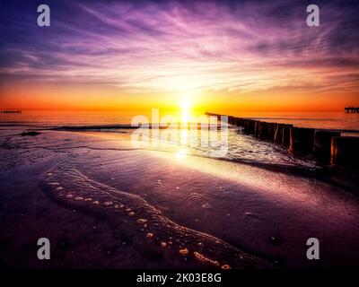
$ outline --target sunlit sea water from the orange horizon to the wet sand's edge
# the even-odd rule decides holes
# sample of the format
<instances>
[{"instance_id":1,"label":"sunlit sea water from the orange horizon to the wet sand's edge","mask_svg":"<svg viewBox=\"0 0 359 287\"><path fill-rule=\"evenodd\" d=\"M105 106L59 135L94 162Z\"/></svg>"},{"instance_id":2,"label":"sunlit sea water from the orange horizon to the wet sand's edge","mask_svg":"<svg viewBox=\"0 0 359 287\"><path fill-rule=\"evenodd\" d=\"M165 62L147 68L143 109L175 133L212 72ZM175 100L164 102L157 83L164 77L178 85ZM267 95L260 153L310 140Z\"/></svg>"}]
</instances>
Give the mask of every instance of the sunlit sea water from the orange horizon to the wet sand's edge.
<instances>
[{"instance_id":1,"label":"sunlit sea water from the orange horizon to the wet sand's edge","mask_svg":"<svg viewBox=\"0 0 359 287\"><path fill-rule=\"evenodd\" d=\"M74 112L74 111L23 111L22 114L0 114L0 129L17 126L17 129L50 126L86 126L83 131L101 132L118 136L118 140L130 140L134 129L123 128L116 125L130 125L133 117L144 115L151 120L151 112ZM163 114L162 116L165 116ZM359 114L346 114L344 112L239 112L237 117L250 117L277 123L289 123L294 126L337 129L342 135L359 135ZM106 128L99 128L107 125ZM113 125L113 126L112 126ZM1 127L3 126L3 127ZM29 127L31 126L31 127ZM33 127L32 127L33 126ZM13 127L12 127L13 128ZM76 131L81 131L77 130ZM206 137L203 131L201 136ZM208 135L209 138L210 135ZM150 136L151 137L151 136ZM159 148L165 152L172 152L182 157L187 154L213 157L218 149L216 145L192 144L199 143L198 135L191 135L187 130L181 130L179 137L164 140ZM228 152L222 158L228 161L246 161L260 165L303 166L311 168L315 163L307 160L294 159L288 156L286 149L273 143L258 141L249 135L241 135L239 128L231 126L228 130ZM219 144L219 143L218 143ZM217 144L217 145L218 145ZM153 148L153 147L152 147Z\"/></svg>"}]
</instances>

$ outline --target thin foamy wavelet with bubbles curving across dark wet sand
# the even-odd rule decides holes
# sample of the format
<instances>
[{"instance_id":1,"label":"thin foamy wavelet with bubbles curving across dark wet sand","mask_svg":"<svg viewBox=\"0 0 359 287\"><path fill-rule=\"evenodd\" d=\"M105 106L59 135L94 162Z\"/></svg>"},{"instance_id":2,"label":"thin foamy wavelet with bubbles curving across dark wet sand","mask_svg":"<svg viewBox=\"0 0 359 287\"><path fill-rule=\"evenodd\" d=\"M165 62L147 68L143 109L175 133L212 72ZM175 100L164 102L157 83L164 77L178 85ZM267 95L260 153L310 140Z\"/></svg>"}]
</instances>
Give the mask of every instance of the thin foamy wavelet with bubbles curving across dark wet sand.
<instances>
[{"instance_id":1,"label":"thin foamy wavelet with bubbles curving across dark wet sand","mask_svg":"<svg viewBox=\"0 0 359 287\"><path fill-rule=\"evenodd\" d=\"M51 176L49 176L51 174ZM59 196L57 182L65 196ZM110 222L123 245L131 239L161 247L165 257L205 267L268 267L266 261L250 256L226 242L172 222L141 196L128 194L84 176L66 163L48 170L42 187L60 204L76 208ZM196 197L196 196L194 196ZM102 204L101 204L102 203ZM119 206L124 208L119 208Z\"/></svg>"}]
</instances>

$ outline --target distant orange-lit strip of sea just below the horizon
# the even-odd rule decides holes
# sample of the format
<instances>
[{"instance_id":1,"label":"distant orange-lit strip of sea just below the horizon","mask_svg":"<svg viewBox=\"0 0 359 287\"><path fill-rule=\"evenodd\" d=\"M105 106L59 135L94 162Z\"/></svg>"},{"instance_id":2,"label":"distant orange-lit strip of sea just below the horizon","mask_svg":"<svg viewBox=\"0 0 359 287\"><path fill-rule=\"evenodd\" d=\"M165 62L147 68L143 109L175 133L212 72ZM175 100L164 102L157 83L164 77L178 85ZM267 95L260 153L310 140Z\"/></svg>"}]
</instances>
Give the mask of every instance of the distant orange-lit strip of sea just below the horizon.
<instances>
[{"instance_id":1,"label":"distant orange-lit strip of sea just below the horizon","mask_svg":"<svg viewBox=\"0 0 359 287\"><path fill-rule=\"evenodd\" d=\"M0 114L0 124L35 126L129 125L133 117L151 111L22 111L21 114ZM162 113L161 116L167 115ZM359 134L359 114L343 112L233 112L232 116L293 124L294 126L337 129Z\"/></svg>"}]
</instances>

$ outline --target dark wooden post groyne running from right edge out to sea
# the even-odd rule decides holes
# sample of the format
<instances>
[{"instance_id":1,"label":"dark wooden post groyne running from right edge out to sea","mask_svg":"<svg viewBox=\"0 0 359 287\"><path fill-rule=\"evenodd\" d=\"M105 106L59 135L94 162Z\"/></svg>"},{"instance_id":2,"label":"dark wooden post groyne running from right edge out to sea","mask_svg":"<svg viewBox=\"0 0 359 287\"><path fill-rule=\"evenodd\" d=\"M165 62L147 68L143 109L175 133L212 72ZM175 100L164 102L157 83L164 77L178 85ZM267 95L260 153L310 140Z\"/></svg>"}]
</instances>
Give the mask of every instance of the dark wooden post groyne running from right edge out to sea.
<instances>
[{"instance_id":1,"label":"dark wooden post groyne running from right edge out to sea","mask_svg":"<svg viewBox=\"0 0 359 287\"><path fill-rule=\"evenodd\" d=\"M222 116L206 112L207 116ZM283 146L295 157L312 156L331 168L359 172L359 137L341 136L340 132L278 124L243 117L228 117L228 124L241 126L243 134Z\"/></svg>"}]
</instances>

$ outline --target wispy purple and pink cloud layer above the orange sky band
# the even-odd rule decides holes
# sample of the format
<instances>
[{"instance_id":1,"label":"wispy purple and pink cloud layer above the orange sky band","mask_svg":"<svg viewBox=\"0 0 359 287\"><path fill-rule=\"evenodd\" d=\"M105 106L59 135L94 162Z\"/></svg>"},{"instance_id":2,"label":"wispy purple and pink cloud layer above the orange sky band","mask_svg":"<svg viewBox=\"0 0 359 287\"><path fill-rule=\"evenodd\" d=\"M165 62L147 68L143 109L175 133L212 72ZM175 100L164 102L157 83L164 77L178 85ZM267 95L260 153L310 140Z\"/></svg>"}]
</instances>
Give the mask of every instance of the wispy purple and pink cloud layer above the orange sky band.
<instances>
[{"instance_id":1,"label":"wispy purple and pink cloud layer above the orange sky band","mask_svg":"<svg viewBox=\"0 0 359 287\"><path fill-rule=\"evenodd\" d=\"M319 3L316 28L297 1L50 1L49 28L7 4L0 73L126 92L359 91L358 6Z\"/></svg>"}]
</instances>

